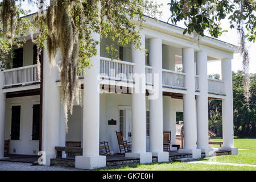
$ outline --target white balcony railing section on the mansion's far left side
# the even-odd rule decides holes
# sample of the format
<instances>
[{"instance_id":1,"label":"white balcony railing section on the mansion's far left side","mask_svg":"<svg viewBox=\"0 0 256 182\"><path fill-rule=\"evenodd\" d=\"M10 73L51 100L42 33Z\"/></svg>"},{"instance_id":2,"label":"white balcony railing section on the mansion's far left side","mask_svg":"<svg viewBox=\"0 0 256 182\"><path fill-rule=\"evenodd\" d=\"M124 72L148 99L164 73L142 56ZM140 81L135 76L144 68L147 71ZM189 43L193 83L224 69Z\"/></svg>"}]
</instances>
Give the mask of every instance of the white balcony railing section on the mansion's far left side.
<instances>
[{"instance_id":1,"label":"white balcony railing section on the mansion's far left side","mask_svg":"<svg viewBox=\"0 0 256 182\"><path fill-rule=\"evenodd\" d=\"M25 85L40 82L36 64L26 67L6 69L3 71L3 75L3 86Z\"/></svg>"}]
</instances>

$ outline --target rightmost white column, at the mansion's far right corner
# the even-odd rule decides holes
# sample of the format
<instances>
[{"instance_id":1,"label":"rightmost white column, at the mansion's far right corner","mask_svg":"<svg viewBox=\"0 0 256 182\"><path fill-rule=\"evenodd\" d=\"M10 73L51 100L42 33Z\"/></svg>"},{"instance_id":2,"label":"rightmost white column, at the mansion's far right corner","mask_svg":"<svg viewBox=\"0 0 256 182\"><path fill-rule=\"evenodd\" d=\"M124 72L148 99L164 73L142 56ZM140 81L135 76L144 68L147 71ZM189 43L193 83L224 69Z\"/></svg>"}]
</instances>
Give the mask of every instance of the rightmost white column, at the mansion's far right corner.
<instances>
[{"instance_id":1,"label":"rightmost white column, at the mansion's far right corner","mask_svg":"<svg viewBox=\"0 0 256 182\"><path fill-rule=\"evenodd\" d=\"M232 92L232 69L231 59L221 60L221 75L225 81L226 97L222 99L222 137L223 147L220 150L231 150L232 154L238 154L238 148L234 147L234 124L233 124L233 92Z\"/></svg>"}]
</instances>

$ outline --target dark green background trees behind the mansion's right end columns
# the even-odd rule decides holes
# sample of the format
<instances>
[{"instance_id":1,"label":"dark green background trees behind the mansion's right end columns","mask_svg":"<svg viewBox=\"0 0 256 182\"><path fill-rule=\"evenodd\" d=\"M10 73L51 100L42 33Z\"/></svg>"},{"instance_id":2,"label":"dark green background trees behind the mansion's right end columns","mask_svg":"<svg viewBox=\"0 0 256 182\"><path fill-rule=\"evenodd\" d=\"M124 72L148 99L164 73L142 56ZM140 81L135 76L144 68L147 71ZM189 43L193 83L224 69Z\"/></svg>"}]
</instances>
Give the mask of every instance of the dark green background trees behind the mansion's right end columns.
<instances>
[{"instance_id":1,"label":"dark green background trees behind the mansion's right end columns","mask_svg":"<svg viewBox=\"0 0 256 182\"><path fill-rule=\"evenodd\" d=\"M249 106L243 94L243 71L233 72L233 117L234 135L238 137L256 137L256 74L250 75ZM210 100L209 127L217 127L222 133L221 100ZM250 109L249 109L250 108Z\"/></svg>"}]
</instances>

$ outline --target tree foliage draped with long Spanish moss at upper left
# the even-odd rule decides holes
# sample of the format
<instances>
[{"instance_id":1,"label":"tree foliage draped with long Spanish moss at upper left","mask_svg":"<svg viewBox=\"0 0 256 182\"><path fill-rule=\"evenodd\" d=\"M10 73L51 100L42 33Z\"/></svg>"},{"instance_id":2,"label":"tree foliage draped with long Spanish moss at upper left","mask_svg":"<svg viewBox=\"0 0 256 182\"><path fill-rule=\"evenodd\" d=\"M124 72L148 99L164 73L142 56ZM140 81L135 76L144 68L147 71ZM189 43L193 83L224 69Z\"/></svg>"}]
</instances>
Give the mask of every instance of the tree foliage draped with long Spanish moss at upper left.
<instances>
[{"instance_id":1,"label":"tree foliage draped with long Spanish moss at upper left","mask_svg":"<svg viewBox=\"0 0 256 182\"><path fill-rule=\"evenodd\" d=\"M61 96L66 120L68 111L72 114L74 100L79 102L77 70L92 67L90 57L97 53L98 42L92 38L92 32L113 40L113 45L106 48L110 56L117 52L114 44L132 43L141 49L139 31L143 28L144 15L155 18L159 13L159 5L151 0L51 0L49 5L43 0L29 0L39 12L32 18L21 18L21 14L27 14L21 9L22 1L3 0L0 4L2 67L7 67L5 53L13 46L21 46L26 36L23 33L28 30L31 34L38 33L33 42L38 46L38 53L43 47L48 49L52 66L58 66L56 55L60 49Z\"/></svg>"}]
</instances>

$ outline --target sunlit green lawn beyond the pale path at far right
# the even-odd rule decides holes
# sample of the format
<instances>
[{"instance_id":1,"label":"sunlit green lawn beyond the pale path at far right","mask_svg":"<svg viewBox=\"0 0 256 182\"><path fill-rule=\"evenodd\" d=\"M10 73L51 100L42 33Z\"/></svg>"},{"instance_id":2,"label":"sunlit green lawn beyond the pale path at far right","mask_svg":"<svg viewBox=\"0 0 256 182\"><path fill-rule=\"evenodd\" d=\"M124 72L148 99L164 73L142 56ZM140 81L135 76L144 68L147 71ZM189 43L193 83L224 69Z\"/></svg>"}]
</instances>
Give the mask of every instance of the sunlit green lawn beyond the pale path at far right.
<instances>
[{"instance_id":1,"label":"sunlit green lawn beyond the pale path at far right","mask_svg":"<svg viewBox=\"0 0 256 182\"><path fill-rule=\"evenodd\" d=\"M214 141L222 141L220 138ZM200 160L208 160L214 162L237 163L237 164L253 164L256 165L256 138L235 138L234 146L249 150L239 150L238 155L221 155L214 158L204 158ZM218 146L213 146L218 147Z\"/></svg>"}]
</instances>

